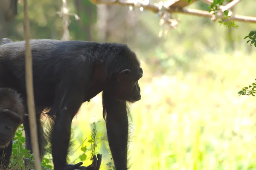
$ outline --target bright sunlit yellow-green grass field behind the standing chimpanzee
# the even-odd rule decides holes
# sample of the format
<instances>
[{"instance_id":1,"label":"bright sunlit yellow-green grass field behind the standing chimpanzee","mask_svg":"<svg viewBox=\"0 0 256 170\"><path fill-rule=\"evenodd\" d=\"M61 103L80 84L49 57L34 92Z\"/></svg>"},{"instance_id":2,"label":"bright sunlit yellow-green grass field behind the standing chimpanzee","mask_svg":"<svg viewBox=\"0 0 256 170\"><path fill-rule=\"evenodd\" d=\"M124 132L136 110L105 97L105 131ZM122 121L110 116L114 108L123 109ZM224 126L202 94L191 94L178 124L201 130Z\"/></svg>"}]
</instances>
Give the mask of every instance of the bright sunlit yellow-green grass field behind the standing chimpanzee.
<instances>
[{"instance_id":1,"label":"bright sunlit yellow-green grass field behind the standing chimpanzee","mask_svg":"<svg viewBox=\"0 0 256 170\"><path fill-rule=\"evenodd\" d=\"M255 63L256 54L208 53L189 73L169 76L154 76L142 63L142 99L131 106L131 170L256 169L256 98L237 94L256 78ZM100 121L98 137L104 136L101 105L101 94L82 105L73 120L74 148L90 139L93 122ZM98 146L101 170L107 170L105 164L113 162L107 142ZM81 153L76 150L70 160Z\"/></svg>"}]
</instances>

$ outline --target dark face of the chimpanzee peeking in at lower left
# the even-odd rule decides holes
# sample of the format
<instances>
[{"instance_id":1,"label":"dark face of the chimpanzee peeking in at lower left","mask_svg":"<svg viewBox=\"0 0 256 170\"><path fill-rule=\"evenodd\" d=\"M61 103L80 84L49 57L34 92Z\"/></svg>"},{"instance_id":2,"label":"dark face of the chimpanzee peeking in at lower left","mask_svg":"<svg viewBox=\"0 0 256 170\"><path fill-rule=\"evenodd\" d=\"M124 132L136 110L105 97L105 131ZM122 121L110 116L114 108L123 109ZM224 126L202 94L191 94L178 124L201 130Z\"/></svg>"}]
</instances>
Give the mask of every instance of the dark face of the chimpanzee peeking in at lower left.
<instances>
[{"instance_id":1,"label":"dark face of the chimpanzee peeking in at lower left","mask_svg":"<svg viewBox=\"0 0 256 170\"><path fill-rule=\"evenodd\" d=\"M17 127L28 118L12 112L8 109L0 108L0 148L6 147L12 140Z\"/></svg>"}]
</instances>

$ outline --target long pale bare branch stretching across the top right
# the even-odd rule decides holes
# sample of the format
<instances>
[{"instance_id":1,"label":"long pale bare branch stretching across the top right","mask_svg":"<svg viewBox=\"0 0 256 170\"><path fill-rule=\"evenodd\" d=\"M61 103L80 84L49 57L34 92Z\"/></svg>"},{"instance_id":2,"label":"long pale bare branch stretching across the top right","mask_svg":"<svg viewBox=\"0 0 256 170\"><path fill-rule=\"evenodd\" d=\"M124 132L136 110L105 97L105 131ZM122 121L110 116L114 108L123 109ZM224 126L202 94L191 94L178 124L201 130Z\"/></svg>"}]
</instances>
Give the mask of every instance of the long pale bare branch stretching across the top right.
<instances>
[{"instance_id":1,"label":"long pale bare branch stretching across the top right","mask_svg":"<svg viewBox=\"0 0 256 170\"><path fill-rule=\"evenodd\" d=\"M158 4L148 4L148 3L137 3L134 1L126 1L126 0L90 0L93 4L106 4L106 5L120 5L120 6L134 6L134 7L143 7L144 9L147 9L149 11L152 11L154 13L158 13L160 11L166 11L168 13L182 13L182 14L189 14L189 15L195 15L195 16L201 16L201 17L216 17L216 18L222 18L222 15L214 15L210 14L209 11L203 11L198 9L190 9L190 8L173 8L172 6L169 6L169 8L166 8L165 6L162 7L160 10L158 7ZM236 3L238 3L241 0L234 0L235 3L230 4L230 6L234 6ZM228 5L228 4L227 4ZM256 23L256 17L249 17L249 16L243 16L243 15L231 15L227 21L241 21L241 22L249 22L249 23Z\"/></svg>"}]
</instances>

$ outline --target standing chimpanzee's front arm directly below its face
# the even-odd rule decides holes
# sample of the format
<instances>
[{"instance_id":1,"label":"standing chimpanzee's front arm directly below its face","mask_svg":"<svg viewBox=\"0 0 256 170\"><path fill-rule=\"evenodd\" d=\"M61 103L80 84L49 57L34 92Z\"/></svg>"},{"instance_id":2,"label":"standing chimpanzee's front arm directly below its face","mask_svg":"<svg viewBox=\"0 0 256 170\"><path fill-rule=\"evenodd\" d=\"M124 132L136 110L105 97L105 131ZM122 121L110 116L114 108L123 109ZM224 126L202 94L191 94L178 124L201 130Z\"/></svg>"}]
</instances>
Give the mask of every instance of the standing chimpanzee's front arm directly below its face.
<instances>
[{"instance_id":1,"label":"standing chimpanzee's front arm directly below its face","mask_svg":"<svg viewBox=\"0 0 256 170\"><path fill-rule=\"evenodd\" d=\"M128 116L126 101L103 92L103 111L107 113L108 143L116 170L127 170Z\"/></svg>"}]
</instances>

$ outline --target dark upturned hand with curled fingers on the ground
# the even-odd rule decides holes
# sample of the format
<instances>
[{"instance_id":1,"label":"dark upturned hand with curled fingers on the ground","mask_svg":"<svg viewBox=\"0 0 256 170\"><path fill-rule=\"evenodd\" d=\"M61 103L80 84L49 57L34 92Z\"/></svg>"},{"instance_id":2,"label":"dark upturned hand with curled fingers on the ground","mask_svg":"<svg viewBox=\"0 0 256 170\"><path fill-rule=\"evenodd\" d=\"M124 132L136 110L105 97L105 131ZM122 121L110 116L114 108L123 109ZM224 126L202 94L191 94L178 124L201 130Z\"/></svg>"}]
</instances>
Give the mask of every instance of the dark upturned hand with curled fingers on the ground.
<instances>
[{"instance_id":1,"label":"dark upturned hand with curled fingers on the ground","mask_svg":"<svg viewBox=\"0 0 256 170\"><path fill-rule=\"evenodd\" d=\"M98 158L98 160L97 160ZM79 162L77 164L66 164L64 170L99 170L99 167L101 165L101 161L102 161L102 155L101 154L97 154L97 158L94 155L93 156L93 163L91 165L89 165L88 167L81 167L81 165L83 164L83 162Z\"/></svg>"}]
</instances>

